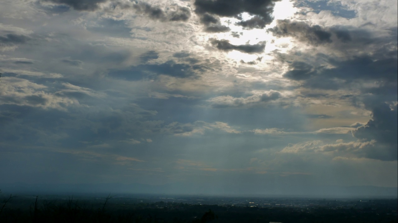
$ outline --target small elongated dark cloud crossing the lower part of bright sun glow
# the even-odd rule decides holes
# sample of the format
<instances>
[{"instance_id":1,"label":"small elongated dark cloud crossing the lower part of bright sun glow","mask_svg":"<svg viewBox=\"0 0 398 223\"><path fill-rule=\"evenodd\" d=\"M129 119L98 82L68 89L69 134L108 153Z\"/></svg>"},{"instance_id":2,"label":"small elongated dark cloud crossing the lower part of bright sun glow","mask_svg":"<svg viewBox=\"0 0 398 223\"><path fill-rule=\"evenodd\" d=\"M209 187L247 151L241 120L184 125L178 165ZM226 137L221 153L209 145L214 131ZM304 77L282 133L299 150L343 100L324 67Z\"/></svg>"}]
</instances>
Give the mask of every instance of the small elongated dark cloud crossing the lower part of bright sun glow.
<instances>
[{"instance_id":1,"label":"small elongated dark cloud crossing the lower part of bright sun glow","mask_svg":"<svg viewBox=\"0 0 398 223\"><path fill-rule=\"evenodd\" d=\"M254 54L254 53L262 53L265 49L265 42L259 42L258 44L244 44L244 45L234 45L230 44L229 40L217 40L215 38L209 39L211 44L215 46L217 49L222 51L231 51L231 50L238 50L240 52Z\"/></svg>"}]
</instances>

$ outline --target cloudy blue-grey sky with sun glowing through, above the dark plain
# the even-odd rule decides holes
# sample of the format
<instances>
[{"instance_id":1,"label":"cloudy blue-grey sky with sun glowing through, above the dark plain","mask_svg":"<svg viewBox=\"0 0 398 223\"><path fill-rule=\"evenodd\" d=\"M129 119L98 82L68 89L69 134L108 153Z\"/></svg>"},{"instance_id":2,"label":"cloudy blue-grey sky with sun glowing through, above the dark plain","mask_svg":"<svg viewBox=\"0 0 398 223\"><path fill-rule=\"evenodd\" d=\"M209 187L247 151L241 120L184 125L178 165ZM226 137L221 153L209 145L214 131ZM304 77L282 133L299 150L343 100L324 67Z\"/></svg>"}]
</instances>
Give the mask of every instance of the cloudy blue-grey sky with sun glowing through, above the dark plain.
<instances>
[{"instance_id":1,"label":"cloudy blue-grey sky with sun glowing through, above the dark plain","mask_svg":"<svg viewBox=\"0 0 398 223\"><path fill-rule=\"evenodd\" d=\"M2 0L1 183L396 187L397 8Z\"/></svg>"}]
</instances>

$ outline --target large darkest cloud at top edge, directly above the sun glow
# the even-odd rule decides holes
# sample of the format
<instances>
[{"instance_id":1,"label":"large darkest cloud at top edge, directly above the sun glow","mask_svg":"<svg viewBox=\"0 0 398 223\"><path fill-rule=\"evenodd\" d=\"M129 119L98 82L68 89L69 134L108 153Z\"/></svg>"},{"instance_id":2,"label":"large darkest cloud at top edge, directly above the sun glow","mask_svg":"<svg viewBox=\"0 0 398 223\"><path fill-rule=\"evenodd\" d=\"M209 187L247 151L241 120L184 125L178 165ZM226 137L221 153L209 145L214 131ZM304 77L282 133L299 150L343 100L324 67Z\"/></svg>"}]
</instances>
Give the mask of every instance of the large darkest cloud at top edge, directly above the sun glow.
<instances>
[{"instance_id":1,"label":"large darkest cloud at top edge, directly above the sun glow","mask_svg":"<svg viewBox=\"0 0 398 223\"><path fill-rule=\"evenodd\" d=\"M202 23L206 25L210 16L235 17L242 20L241 14L246 12L254 15L246 21L240 21L240 25L246 29L263 29L272 22L273 7L277 0L195 0L195 12L202 15ZM204 18L206 17L206 18ZM214 19L213 19L213 23Z\"/></svg>"}]
</instances>

